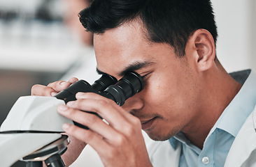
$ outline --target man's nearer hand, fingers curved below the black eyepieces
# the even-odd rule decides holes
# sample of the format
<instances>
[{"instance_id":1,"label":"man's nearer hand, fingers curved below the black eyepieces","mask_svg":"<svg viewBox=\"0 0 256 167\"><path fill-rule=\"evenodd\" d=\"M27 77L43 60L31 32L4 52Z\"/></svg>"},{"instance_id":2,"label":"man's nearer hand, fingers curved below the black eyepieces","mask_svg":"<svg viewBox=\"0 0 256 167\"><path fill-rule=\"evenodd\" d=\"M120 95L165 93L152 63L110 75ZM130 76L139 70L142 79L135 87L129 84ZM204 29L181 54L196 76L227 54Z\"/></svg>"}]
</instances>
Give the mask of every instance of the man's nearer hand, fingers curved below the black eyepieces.
<instances>
[{"instance_id":1,"label":"man's nearer hand, fingers curved below the black eyepieces","mask_svg":"<svg viewBox=\"0 0 256 167\"><path fill-rule=\"evenodd\" d=\"M65 124L66 134L91 145L104 166L152 166L138 118L95 93L77 93L76 98L76 101L60 105L58 111L90 129ZM108 124L85 111L98 113Z\"/></svg>"}]
</instances>

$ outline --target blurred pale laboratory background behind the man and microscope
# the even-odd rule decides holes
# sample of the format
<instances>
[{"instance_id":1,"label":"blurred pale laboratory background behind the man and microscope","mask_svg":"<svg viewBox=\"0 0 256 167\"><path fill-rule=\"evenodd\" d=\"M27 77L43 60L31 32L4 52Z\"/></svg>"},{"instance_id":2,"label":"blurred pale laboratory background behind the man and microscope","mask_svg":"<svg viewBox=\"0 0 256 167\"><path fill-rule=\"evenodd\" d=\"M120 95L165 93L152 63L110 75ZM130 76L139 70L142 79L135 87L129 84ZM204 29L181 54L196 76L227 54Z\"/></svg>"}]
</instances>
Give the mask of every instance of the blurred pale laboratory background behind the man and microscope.
<instances>
[{"instance_id":1,"label":"blurred pale laboratory background behind the man and microscope","mask_svg":"<svg viewBox=\"0 0 256 167\"><path fill-rule=\"evenodd\" d=\"M256 70L256 1L212 2L220 62L228 72ZM30 95L34 84L47 85L70 77L92 83L98 78L92 34L84 31L77 16L89 3L0 0L0 125L17 98ZM73 166L83 162L102 166L96 152L81 156ZM14 166L23 165L17 162Z\"/></svg>"}]
</instances>

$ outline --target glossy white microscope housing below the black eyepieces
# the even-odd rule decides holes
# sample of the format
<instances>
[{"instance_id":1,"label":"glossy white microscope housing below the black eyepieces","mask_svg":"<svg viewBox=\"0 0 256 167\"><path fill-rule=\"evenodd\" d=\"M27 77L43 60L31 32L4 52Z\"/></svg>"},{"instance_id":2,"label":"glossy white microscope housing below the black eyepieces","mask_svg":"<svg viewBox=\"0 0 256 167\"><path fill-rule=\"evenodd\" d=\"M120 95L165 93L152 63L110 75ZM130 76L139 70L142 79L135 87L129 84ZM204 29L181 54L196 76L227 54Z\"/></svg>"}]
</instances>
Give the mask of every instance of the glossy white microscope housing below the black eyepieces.
<instances>
[{"instance_id":1,"label":"glossy white microscope housing below the black eyepieces","mask_svg":"<svg viewBox=\"0 0 256 167\"><path fill-rule=\"evenodd\" d=\"M15 102L0 129L1 166L11 166L31 152L62 138L62 125L73 124L73 121L57 113L59 104L65 102L42 96L24 96Z\"/></svg>"}]
</instances>

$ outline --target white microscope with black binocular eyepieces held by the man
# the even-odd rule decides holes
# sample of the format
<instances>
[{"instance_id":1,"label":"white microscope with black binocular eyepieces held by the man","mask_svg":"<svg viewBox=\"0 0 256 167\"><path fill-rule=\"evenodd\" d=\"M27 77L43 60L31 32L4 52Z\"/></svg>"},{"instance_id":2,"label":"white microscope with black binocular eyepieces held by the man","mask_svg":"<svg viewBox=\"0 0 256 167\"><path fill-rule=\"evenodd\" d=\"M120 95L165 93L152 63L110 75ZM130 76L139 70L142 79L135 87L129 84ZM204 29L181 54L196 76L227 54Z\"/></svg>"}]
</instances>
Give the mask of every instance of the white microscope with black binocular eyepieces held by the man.
<instances>
[{"instance_id":1,"label":"white microscope with black binocular eyepieces held by the man","mask_svg":"<svg viewBox=\"0 0 256 167\"><path fill-rule=\"evenodd\" d=\"M127 72L119 81L107 74L92 85L77 81L55 97L20 97L0 128L0 166L12 166L18 160L26 161L27 167L41 167L43 162L49 167L65 166L61 155L68 149L69 138L63 134L62 125L88 128L59 115L57 106L76 100L78 92L97 93L122 106L142 89L141 76Z\"/></svg>"}]
</instances>

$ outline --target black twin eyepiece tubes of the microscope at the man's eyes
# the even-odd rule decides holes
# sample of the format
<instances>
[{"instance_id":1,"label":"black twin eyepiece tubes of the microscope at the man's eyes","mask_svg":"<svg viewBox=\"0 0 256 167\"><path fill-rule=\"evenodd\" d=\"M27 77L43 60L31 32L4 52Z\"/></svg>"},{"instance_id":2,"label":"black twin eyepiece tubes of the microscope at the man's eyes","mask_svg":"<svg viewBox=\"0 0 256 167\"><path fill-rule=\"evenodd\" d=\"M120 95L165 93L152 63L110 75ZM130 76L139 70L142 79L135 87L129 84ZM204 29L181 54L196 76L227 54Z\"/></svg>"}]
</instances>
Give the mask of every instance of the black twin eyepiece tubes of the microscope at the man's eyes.
<instances>
[{"instance_id":1,"label":"black twin eyepiece tubes of the microscope at the man's eyes","mask_svg":"<svg viewBox=\"0 0 256 167\"><path fill-rule=\"evenodd\" d=\"M125 104L125 100L132 97L143 89L143 79L136 72L127 72L119 81L111 75L102 75L100 79L94 81L92 86L87 81L80 80L69 86L65 90L55 95L57 99L66 103L76 100L78 92L92 92L114 100L118 105Z\"/></svg>"}]
</instances>

